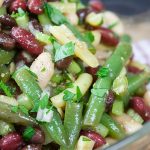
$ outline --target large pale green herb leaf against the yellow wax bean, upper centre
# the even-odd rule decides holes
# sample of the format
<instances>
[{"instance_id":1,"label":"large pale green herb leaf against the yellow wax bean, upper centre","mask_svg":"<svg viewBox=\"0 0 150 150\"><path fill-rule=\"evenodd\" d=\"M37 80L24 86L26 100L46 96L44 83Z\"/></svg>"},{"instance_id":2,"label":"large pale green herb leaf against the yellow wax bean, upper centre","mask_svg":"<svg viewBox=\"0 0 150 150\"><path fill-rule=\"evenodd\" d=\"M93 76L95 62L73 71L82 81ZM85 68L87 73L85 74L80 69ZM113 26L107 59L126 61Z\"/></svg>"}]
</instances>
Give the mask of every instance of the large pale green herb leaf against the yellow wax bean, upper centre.
<instances>
[{"instance_id":1,"label":"large pale green herb leaf against the yellow wax bean, upper centre","mask_svg":"<svg viewBox=\"0 0 150 150\"><path fill-rule=\"evenodd\" d=\"M74 49L75 49L75 45L73 44L73 42L69 42L60 47L58 47L58 45L57 45L57 49L55 49L56 50L55 62L57 62L63 58L74 55Z\"/></svg>"}]
</instances>

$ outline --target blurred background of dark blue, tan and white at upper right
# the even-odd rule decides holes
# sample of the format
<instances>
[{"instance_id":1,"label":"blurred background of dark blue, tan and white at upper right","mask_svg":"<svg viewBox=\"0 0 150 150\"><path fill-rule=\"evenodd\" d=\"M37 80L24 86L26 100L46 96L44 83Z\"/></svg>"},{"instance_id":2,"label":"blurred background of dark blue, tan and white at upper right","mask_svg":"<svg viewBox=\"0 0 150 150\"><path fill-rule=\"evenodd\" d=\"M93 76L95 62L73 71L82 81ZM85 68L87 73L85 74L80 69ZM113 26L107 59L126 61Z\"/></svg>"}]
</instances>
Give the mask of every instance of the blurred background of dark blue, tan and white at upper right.
<instances>
[{"instance_id":1,"label":"blurred background of dark blue, tan and white at upper right","mask_svg":"<svg viewBox=\"0 0 150 150\"><path fill-rule=\"evenodd\" d=\"M83 2L87 3L88 0ZM125 32L133 39L134 59L150 66L150 0L101 0L101 2L106 10L120 16Z\"/></svg>"}]
</instances>

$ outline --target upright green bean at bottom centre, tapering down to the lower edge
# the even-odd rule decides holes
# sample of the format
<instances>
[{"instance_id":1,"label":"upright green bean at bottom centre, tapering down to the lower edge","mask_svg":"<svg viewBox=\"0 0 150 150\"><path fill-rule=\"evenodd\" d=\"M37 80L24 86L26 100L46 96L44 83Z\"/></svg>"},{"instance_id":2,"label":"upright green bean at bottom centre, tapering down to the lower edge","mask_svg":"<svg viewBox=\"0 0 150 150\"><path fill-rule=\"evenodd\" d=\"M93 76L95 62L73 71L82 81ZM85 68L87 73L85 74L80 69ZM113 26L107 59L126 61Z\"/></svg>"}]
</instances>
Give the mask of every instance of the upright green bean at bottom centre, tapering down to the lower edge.
<instances>
[{"instance_id":1,"label":"upright green bean at bottom centre, tapering down to the lower edge","mask_svg":"<svg viewBox=\"0 0 150 150\"><path fill-rule=\"evenodd\" d=\"M83 103L67 102L64 127L69 137L69 150L74 150L82 124Z\"/></svg>"}]
</instances>

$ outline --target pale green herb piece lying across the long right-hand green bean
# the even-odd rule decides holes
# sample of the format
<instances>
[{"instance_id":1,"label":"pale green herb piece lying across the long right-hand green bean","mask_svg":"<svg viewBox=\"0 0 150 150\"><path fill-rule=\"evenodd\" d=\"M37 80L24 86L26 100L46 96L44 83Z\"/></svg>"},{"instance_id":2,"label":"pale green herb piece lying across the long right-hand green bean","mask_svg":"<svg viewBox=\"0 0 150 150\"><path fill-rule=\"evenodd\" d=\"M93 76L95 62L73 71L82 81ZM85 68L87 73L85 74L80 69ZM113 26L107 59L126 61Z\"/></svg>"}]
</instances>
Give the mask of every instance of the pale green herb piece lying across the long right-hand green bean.
<instances>
[{"instance_id":1,"label":"pale green herb piece lying across the long right-hand green bean","mask_svg":"<svg viewBox=\"0 0 150 150\"><path fill-rule=\"evenodd\" d=\"M95 96L103 98L108 92L108 89L91 89L91 93Z\"/></svg>"}]
</instances>

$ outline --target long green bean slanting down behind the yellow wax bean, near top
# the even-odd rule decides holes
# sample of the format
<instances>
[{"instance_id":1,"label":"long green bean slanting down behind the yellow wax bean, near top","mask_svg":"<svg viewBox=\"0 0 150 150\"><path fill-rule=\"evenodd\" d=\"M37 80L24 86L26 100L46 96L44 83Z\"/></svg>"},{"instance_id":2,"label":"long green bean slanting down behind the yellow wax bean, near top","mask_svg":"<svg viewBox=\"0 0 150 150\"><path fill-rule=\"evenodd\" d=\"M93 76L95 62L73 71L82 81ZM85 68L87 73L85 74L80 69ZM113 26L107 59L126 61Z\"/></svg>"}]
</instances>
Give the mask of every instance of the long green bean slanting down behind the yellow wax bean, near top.
<instances>
[{"instance_id":1,"label":"long green bean slanting down behind the yellow wax bean, near top","mask_svg":"<svg viewBox=\"0 0 150 150\"><path fill-rule=\"evenodd\" d=\"M48 17L54 24L65 24L79 40L87 43L88 48L92 53L96 52L94 46L86 38L84 38L80 31L78 31L78 29L74 27L58 9L56 9L52 5L49 5L48 3L44 4L44 9Z\"/></svg>"}]
</instances>

